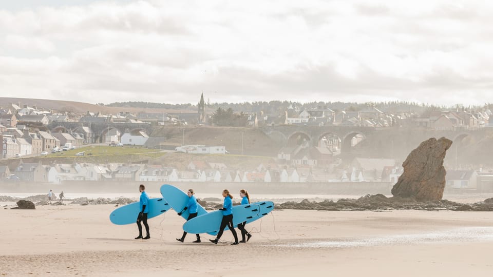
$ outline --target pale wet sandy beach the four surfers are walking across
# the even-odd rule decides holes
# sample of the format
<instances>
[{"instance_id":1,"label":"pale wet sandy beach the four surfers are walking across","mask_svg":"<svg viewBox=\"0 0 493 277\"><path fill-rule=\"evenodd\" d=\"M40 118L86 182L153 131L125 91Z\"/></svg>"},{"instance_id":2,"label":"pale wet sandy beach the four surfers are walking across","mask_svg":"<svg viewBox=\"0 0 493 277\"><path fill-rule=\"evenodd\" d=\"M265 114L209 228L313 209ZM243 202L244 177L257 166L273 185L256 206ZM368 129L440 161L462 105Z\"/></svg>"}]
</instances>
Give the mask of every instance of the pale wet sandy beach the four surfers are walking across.
<instances>
[{"instance_id":1,"label":"pale wet sandy beach the four surfers are walking across","mask_svg":"<svg viewBox=\"0 0 493 277\"><path fill-rule=\"evenodd\" d=\"M493 213L275 210L247 225L253 238L232 246L179 243L173 210L135 224L110 223L113 205L0 210L2 276L464 276L493 270Z\"/></svg>"}]
</instances>

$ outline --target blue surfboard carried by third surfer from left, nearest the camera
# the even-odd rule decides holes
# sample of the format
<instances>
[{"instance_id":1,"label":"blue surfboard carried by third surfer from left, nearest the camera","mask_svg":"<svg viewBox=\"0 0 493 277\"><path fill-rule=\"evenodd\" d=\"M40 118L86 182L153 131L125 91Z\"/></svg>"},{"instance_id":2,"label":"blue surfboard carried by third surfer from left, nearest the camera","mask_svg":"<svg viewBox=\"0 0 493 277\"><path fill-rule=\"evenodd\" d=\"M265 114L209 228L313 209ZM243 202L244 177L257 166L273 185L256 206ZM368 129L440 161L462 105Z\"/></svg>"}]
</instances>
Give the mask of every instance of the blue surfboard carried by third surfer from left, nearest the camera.
<instances>
[{"instance_id":1,"label":"blue surfboard carried by third surfer from left, nearest the camera","mask_svg":"<svg viewBox=\"0 0 493 277\"><path fill-rule=\"evenodd\" d=\"M258 217L260 206L257 204L238 205L233 207L233 225ZM219 231L222 211L213 211L191 219L183 224L183 231L193 234L215 233Z\"/></svg>"}]
</instances>

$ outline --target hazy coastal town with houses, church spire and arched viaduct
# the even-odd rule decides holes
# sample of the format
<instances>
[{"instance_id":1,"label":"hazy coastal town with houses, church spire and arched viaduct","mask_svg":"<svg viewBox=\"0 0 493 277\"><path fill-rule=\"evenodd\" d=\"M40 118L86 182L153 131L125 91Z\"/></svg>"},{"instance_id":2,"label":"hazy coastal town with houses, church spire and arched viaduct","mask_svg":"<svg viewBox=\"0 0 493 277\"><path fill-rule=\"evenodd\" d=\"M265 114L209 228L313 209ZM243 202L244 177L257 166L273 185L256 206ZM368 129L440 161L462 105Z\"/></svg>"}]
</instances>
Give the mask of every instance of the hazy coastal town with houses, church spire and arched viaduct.
<instances>
[{"instance_id":1,"label":"hazy coastal town with houses, church spire and arched viaduct","mask_svg":"<svg viewBox=\"0 0 493 277\"><path fill-rule=\"evenodd\" d=\"M376 149L376 153L367 151L361 155L353 151L364 145L362 142L370 139L375 130L448 132L454 136L454 143L460 144L471 136L486 136L493 129L492 112L486 106L475 110L456 107L415 112L349 105L346 109L332 109L325 103L315 104L304 109L290 103L285 110L271 109L273 113L229 109L230 118L234 115L240 120L227 125L218 118L227 109L207 107L203 94L195 111L188 109L181 113L131 113L121 108L116 114L101 111L78 114L29 105L28 100L8 103L0 108L0 180L6 184L115 181L350 185L364 182L387 188L402 174L403 156L396 149L390 149L390 153ZM201 128L212 128L208 130L212 133L219 132L219 128L222 131L225 128L226 133L236 132L228 128L241 128L241 139L237 142L240 145L229 143L231 147L228 147L219 139L215 144L200 140L185 143L185 132ZM243 137L253 130L261 130L264 136ZM169 140L172 132L174 141ZM218 136L219 133L215 134L215 138ZM270 141L273 147L261 155L250 153L248 143L260 139ZM395 148L398 147L396 144ZM85 159L98 154L116 155L124 149L155 153L155 157L125 162ZM186 158L177 163L173 162L175 159L165 159L166 155ZM238 166L231 157L243 157L250 163ZM458 163L456 159L445 166L446 189L493 191L493 172L488 165Z\"/></svg>"}]
</instances>

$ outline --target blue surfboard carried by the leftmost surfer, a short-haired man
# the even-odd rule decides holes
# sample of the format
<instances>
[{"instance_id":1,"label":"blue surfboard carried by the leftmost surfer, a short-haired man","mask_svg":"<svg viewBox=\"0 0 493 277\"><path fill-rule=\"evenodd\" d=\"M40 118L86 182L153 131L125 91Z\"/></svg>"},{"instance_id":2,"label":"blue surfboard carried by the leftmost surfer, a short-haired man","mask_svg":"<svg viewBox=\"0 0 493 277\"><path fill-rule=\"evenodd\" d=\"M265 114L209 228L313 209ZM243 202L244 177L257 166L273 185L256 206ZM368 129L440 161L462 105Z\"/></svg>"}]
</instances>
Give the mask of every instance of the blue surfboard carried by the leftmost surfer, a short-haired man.
<instances>
[{"instance_id":1,"label":"blue surfboard carried by the leftmost surfer, a short-haired man","mask_svg":"<svg viewBox=\"0 0 493 277\"><path fill-rule=\"evenodd\" d=\"M166 201L162 198L153 198L149 199L149 212L147 213L147 219L151 219L155 216L166 212L171 207L166 203ZM137 216L139 215L139 202L134 202L122 206L114 211L112 211L109 215L109 220L113 224L117 225L126 225L136 223Z\"/></svg>"}]
</instances>

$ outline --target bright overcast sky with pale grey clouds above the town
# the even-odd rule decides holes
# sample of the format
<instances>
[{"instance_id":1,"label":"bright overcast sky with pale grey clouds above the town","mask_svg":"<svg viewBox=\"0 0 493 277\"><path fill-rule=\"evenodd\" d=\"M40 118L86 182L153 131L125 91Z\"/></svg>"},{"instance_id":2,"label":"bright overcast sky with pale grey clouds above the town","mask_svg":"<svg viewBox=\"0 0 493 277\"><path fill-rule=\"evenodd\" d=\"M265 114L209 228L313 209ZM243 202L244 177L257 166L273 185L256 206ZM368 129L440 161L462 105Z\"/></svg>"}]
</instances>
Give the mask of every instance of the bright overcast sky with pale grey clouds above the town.
<instances>
[{"instance_id":1,"label":"bright overcast sky with pale grey clouds above the town","mask_svg":"<svg viewBox=\"0 0 493 277\"><path fill-rule=\"evenodd\" d=\"M1 96L493 103L492 1L0 3Z\"/></svg>"}]
</instances>

